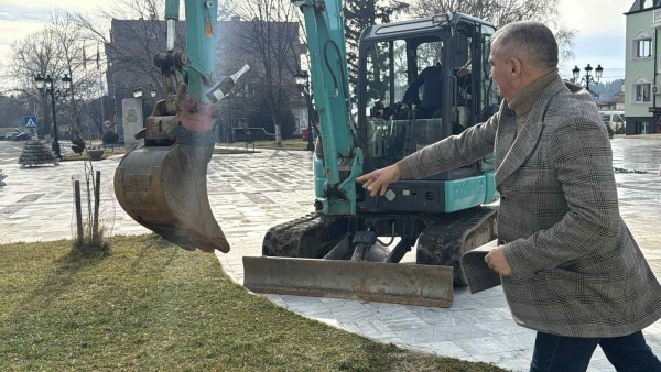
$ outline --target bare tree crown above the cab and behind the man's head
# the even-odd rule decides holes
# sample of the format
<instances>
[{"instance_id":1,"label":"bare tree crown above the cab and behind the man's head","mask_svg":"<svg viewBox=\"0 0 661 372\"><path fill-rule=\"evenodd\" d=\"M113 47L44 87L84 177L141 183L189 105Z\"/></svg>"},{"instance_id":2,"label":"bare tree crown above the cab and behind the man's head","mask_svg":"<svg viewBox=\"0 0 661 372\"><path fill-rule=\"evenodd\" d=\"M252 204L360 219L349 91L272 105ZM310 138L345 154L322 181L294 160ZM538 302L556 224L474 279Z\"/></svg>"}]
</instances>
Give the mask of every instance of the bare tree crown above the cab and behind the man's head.
<instances>
[{"instance_id":1,"label":"bare tree crown above the cab and behind the man's head","mask_svg":"<svg viewBox=\"0 0 661 372\"><path fill-rule=\"evenodd\" d=\"M575 31L559 22L559 0L416 0L411 10L416 17L462 12L489 21L497 28L516 21L540 21L554 31L563 61L573 57Z\"/></svg>"}]
</instances>

